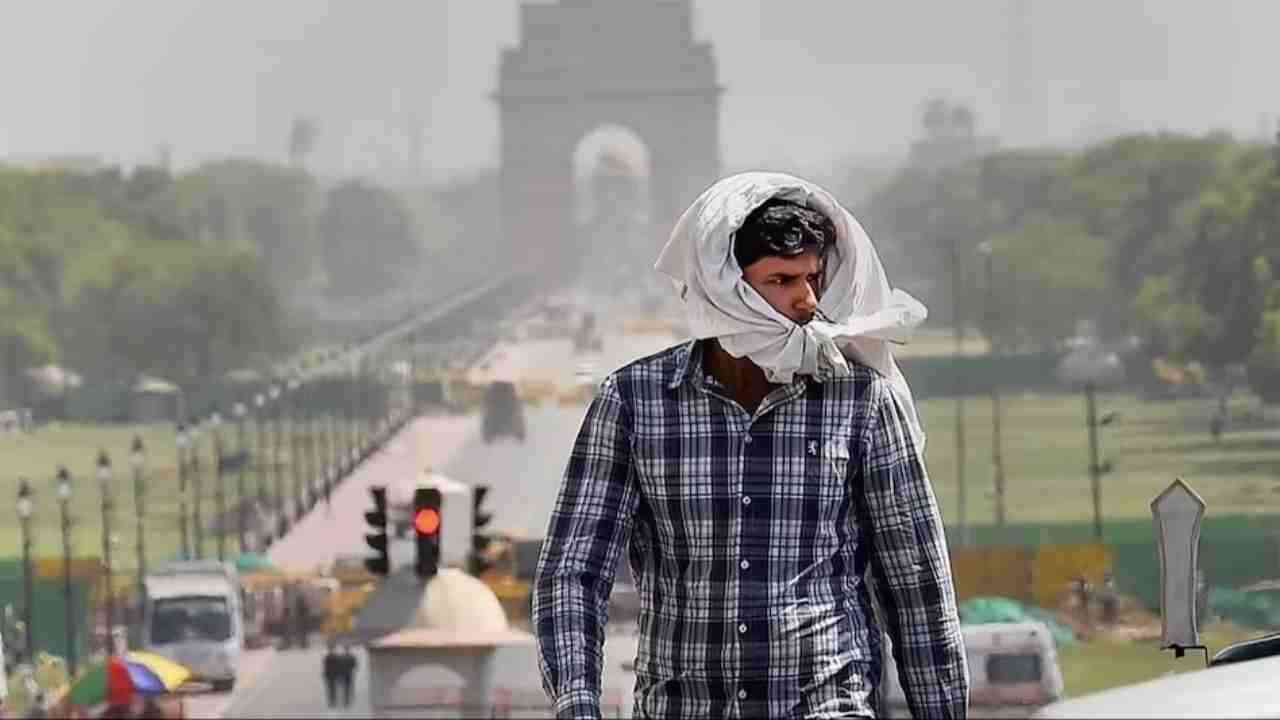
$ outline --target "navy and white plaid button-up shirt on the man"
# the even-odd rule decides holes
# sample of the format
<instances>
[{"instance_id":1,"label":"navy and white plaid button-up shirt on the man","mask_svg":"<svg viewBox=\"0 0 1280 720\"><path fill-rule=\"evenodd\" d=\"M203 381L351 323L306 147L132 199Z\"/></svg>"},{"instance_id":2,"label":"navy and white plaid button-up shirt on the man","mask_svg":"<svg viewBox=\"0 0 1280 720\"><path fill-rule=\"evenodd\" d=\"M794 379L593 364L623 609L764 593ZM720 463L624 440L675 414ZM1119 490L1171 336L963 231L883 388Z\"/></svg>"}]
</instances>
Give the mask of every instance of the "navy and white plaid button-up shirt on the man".
<instances>
[{"instance_id":1,"label":"navy and white plaid button-up shirt on the man","mask_svg":"<svg viewBox=\"0 0 1280 720\"><path fill-rule=\"evenodd\" d=\"M703 377L701 348L611 374L573 445L532 610L557 716L599 716L630 541L636 716L874 716L876 594L911 714L964 717L942 520L887 380L797 377L750 415Z\"/></svg>"}]
</instances>

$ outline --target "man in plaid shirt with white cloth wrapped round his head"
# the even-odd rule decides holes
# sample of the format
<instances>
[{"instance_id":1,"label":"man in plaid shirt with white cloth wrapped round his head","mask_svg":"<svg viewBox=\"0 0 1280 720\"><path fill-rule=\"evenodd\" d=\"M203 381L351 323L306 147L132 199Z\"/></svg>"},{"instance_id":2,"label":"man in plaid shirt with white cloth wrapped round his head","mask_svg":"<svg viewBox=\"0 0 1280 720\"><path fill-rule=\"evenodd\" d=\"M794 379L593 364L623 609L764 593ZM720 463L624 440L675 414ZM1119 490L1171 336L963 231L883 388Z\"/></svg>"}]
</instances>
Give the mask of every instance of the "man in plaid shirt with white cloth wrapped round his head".
<instances>
[{"instance_id":1,"label":"man in plaid shirt with white cloth wrapped round his head","mask_svg":"<svg viewBox=\"0 0 1280 720\"><path fill-rule=\"evenodd\" d=\"M636 716L873 717L881 615L911 714L964 717L924 433L888 348L924 307L827 192L777 173L716 183L657 266L698 340L611 374L570 455L534 592L557 716L600 716L628 547Z\"/></svg>"}]
</instances>

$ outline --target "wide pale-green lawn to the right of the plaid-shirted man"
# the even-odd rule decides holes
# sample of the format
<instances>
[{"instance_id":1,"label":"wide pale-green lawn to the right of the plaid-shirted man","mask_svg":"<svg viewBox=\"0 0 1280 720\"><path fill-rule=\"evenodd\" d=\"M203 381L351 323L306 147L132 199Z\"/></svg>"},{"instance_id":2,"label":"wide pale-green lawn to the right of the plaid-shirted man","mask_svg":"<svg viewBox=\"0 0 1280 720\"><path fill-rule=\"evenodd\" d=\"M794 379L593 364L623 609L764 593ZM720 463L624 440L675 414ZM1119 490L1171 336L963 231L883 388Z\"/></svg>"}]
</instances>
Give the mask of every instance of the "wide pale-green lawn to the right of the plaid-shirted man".
<instances>
[{"instance_id":1,"label":"wide pale-green lawn to the right of the plaid-shirted man","mask_svg":"<svg viewBox=\"0 0 1280 720\"><path fill-rule=\"evenodd\" d=\"M1280 511L1280 421L1239 421L1213 443L1212 402L1144 402L1130 395L1098 397L1098 413L1120 418L1098 429L1100 457L1115 469L1102 478L1106 519L1151 518L1151 500L1174 478L1187 480L1208 515ZM965 398L968 520L995 520L991 402ZM1256 413L1239 398L1233 416ZM920 414L928 433L928 468L947 523L957 519L956 401L927 400ZM1006 516L1010 524L1092 519L1088 430L1082 395L1023 395L1002 398Z\"/></svg>"}]
</instances>

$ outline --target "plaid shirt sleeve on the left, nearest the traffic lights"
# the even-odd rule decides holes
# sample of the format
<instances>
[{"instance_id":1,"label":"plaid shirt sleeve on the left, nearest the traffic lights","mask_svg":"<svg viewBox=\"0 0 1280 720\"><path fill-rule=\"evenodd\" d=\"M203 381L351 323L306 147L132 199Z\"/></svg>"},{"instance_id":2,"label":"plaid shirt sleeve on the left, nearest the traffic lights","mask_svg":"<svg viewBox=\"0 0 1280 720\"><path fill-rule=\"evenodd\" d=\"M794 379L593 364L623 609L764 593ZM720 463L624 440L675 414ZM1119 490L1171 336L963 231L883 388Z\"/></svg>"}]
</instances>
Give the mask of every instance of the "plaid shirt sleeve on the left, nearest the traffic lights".
<instances>
[{"instance_id":1,"label":"plaid shirt sleeve on the left, nearest the traffic lights","mask_svg":"<svg viewBox=\"0 0 1280 720\"><path fill-rule=\"evenodd\" d=\"M534 578L538 666L557 717L600 716L608 600L639 501L631 414L611 375L573 442Z\"/></svg>"}]
</instances>

